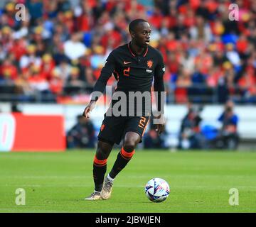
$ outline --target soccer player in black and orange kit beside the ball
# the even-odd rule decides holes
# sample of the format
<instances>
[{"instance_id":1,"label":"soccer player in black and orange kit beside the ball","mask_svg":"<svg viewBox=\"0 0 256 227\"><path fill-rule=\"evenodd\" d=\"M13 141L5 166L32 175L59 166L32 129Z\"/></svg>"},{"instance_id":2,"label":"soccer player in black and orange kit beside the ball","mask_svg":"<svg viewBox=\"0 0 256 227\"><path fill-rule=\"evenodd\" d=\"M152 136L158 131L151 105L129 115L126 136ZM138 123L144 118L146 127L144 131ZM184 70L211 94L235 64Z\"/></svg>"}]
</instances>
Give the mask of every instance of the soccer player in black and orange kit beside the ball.
<instances>
[{"instance_id":1,"label":"soccer player in black and orange kit beside the ball","mask_svg":"<svg viewBox=\"0 0 256 227\"><path fill-rule=\"evenodd\" d=\"M129 92L148 92L151 106L151 84L154 81L154 91L164 92L164 61L161 53L149 45L151 28L144 19L136 19L129 23L129 33L132 37L131 42L114 49L107 57L105 66L102 68L99 79L97 80L90 104L88 104L82 116L89 118L90 112L95 107L95 103L99 98L99 93L104 92L108 79L114 74L117 79L117 88L115 93L123 92L127 94L125 100L128 111L133 109L137 111L137 105L130 106ZM112 96L112 104L108 111L113 111L114 100ZM142 99L144 100L144 99ZM156 99L157 109L160 110L161 96ZM139 112L139 111L138 111ZM114 178L127 165L134 155L134 149L138 143L142 142L146 125L150 117L149 106L142 101L142 111L139 114L127 114L127 116L106 115L102 121L100 133L98 135L97 150L93 162L93 179L95 182L95 191L85 198L85 200L109 199L112 192ZM164 131L164 112L155 116L159 122L156 124L156 131L162 133ZM107 170L107 157L113 148L114 143L119 144L123 140L122 149L117 155L112 170L105 177Z\"/></svg>"}]
</instances>

